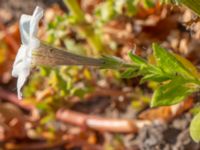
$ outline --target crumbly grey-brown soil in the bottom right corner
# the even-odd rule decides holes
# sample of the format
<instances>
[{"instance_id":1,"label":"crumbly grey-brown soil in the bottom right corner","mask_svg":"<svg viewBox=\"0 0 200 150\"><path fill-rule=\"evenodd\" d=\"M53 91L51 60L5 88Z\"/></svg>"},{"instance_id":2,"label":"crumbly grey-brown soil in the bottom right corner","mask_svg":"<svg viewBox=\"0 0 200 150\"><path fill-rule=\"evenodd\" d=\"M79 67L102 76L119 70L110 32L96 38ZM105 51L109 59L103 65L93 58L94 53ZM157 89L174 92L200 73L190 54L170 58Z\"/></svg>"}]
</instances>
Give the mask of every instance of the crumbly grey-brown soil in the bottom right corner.
<instances>
[{"instance_id":1,"label":"crumbly grey-brown soil in the bottom right corner","mask_svg":"<svg viewBox=\"0 0 200 150\"><path fill-rule=\"evenodd\" d=\"M199 150L200 145L194 143L189 136L188 126L191 115L175 119L170 124L154 123L144 128L137 137L139 146L144 150Z\"/></svg>"}]
</instances>

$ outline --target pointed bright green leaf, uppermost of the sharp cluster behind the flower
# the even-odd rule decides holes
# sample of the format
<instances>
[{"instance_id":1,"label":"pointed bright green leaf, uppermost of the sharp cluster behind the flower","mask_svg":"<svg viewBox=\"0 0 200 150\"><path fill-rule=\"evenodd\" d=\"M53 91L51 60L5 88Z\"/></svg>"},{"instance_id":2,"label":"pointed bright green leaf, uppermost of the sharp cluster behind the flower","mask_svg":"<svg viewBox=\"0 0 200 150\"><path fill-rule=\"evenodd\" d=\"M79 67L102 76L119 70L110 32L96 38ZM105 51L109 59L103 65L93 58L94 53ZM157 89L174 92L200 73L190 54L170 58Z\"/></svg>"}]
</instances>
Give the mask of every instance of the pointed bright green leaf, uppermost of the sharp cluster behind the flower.
<instances>
[{"instance_id":1,"label":"pointed bright green leaf, uppermost of the sharp cluster behind the flower","mask_svg":"<svg viewBox=\"0 0 200 150\"><path fill-rule=\"evenodd\" d=\"M185 68L185 66L176 59L171 53L169 53L166 49L160 47L158 44L152 45L154 56L156 58L157 65L162 68L168 74L176 74L179 73L183 77L194 78L190 71Z\"/></svg>"}]
</instances>

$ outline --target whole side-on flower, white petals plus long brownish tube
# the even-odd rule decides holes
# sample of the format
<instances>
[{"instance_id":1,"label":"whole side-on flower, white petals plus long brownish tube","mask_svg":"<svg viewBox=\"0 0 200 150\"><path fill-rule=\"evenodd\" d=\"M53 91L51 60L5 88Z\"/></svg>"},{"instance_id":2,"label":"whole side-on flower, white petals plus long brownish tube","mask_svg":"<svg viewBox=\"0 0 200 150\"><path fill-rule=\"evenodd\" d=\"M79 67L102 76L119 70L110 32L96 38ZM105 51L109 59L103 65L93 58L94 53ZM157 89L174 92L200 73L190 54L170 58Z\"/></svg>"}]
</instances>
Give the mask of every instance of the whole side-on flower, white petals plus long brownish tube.
<instances>
[{"instance_id":1,"label":"whole side-on flower, white petals plus long brownish tube","mask_svg":"<svg viewBox=\"0 0 200 150\"><path fill-rule=\"evenodd\" d=\"M111 57L102 57L100 59L84 57L40 42L36 36L42 16L43 9L36 7L32 16L22 15L20 18L22 44L12 70L12 76L18 78L17 93L19 99L22 99L21 89L30 75L32 66L83 65L116 68L116 66L119 67L123 64L121 60Z\"/></svg>"}]
</instances>

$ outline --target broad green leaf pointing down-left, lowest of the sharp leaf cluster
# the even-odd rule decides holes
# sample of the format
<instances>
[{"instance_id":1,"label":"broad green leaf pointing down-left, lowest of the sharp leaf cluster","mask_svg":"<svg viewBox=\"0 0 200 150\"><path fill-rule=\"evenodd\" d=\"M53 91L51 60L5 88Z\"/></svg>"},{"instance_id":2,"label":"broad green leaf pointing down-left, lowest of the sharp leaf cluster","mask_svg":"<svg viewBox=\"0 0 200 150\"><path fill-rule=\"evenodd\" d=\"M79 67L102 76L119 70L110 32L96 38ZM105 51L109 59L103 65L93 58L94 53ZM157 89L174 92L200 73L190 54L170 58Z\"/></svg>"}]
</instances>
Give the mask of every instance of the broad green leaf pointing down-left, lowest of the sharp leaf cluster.
<instances>
[{"instance_id":1,"label":"broad green leaf pointing down-left, lowest of the sharp leaf cluster","mask_svg":"<svg viewBox=\"0 0 200 150\"><path fill-rule=\"evenodd\" d=\"M151 107L173 105L183 101L194 89L187 87L188 82L176 77L169 83L160 86L153 94Z\"/></svg>"}]
</instances>

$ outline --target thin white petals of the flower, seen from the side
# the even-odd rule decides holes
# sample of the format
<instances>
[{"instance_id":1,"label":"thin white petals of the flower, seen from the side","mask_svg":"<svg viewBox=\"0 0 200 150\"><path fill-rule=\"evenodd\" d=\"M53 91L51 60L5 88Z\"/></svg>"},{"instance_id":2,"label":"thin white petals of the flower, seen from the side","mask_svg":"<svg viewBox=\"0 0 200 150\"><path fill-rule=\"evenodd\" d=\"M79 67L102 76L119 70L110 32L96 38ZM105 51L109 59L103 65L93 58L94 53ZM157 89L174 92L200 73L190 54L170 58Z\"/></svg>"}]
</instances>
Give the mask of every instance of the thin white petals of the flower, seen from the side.
<instances>
[{"instance_id":1,"label":"thin white petals of the flower, seen from the side","mask_svg":"<svg viewBox=\"0 0 200 150\"><path fill-rule=\"evenodd\" d=\"M22 44L15 58L12 70L12 76L18 78L17 93L19 99L22 98L22 86L30 74L32 51L40 46L40 41L36 36L38 24L42 17L43 9L36 7L32 16L23 14L20 18L20 34Z\"/></svg>"}]
</instances>

